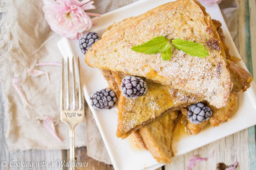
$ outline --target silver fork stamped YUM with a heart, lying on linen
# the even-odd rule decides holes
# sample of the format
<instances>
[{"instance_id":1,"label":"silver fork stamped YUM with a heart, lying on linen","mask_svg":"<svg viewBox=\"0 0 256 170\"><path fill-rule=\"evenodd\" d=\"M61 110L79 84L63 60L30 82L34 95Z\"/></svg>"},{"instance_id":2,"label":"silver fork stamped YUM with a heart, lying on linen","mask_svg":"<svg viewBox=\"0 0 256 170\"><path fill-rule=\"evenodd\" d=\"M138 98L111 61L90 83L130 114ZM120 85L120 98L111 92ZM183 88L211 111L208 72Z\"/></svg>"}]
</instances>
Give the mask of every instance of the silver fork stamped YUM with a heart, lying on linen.
<instances>
[{"instance_id":1,"label":"silver fork stamped YUM with a heart, lying on linen","mask_svg":"<svg viewBox=\"0 0 256 170\"><path fill-rule=\"evenodd\" d=\"M79 108L77 109L77 97L76 97L76 78L75 78L75 65L74 58L72 57L72 81L73 81L73 108L70 107L70 74L69 74L69 58L67 58L67 105L64 108L64 61L62 57L61 63L61 121L65 122L69 126L69 159L71 160L71 166L69 169L74 169L72 162L75 160L75 127L77 124L84 120L84 101L83 101L83 91L81 84L81 70L80 62L77 57L77 69L78 69L78 91L79 91Z\"/></svg>"}]
</instances>

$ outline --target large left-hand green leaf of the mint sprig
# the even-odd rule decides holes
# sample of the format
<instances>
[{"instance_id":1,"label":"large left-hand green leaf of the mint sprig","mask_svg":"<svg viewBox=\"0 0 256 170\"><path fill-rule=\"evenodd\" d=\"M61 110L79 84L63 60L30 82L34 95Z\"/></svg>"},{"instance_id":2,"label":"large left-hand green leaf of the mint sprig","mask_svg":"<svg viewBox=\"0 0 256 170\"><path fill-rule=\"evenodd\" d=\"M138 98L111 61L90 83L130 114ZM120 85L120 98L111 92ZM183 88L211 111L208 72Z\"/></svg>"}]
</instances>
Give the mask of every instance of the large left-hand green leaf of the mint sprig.
<instances>
[{"instance_id":1,"label":"large left-hand green leaf of the mint sprig","mask_svg":"<svg viewBox=\"0 0 256 170\"><path fill-rule=\"evenodd\" d=\"M169 41L169 39L159 36L145 42L144 44L133 46L131 50L144 54L156 54L160 52L162 48L165 48L166 44L170 44Z\"/></svg>"}]
</instances>

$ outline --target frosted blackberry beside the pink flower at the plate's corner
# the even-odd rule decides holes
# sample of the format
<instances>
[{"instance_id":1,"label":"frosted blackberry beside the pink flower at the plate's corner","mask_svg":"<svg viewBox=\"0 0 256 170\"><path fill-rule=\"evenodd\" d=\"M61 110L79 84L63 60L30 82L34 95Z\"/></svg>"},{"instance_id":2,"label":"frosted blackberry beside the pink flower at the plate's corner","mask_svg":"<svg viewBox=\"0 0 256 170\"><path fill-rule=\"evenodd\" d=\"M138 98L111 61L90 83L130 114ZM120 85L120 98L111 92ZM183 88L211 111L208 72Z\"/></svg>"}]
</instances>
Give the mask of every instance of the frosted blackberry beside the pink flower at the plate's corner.
<instances>
[{"instance_id":1,"label":"frosted blackberry beside the pink flower at the plate's corner","mask_svg":"<svg viewBox=\"0 0 256 170\"><path fill-rule=\"evenodd\" d=\"M82 53L86 53L88 49L94 44L95 41L100 40L100 37L95 32L89 32L79 40L79 45Z\"/></svg>"}]
</instances>

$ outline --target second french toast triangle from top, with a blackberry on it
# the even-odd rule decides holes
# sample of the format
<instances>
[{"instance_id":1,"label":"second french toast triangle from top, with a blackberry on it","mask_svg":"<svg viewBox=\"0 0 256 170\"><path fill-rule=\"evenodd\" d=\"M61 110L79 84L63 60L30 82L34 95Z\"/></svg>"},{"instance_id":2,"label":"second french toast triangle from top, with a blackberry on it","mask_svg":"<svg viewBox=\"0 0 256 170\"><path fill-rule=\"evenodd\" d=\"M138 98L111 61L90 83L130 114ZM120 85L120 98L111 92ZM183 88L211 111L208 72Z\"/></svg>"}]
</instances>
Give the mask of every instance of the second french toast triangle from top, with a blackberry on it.
<instances>
[{"instance_id":1,"label":"second french toast triangle from top, with a blackberry on it","mask_svg":"<svg viewBox=\"0 0 256 170\"><path fill-rule=\"evenodd\" d=\"M202 101L202 98L188 92L170 88L145 79L148 92L137 99L128 99L121 92L121 81L127 76L122 73L102 70L112 89L115 89L118 108L117 137L125 139L139 128L146 127L155 118L173 110ZM116 90L118 89L118 91Z\"/></svg>"}]
</instances>

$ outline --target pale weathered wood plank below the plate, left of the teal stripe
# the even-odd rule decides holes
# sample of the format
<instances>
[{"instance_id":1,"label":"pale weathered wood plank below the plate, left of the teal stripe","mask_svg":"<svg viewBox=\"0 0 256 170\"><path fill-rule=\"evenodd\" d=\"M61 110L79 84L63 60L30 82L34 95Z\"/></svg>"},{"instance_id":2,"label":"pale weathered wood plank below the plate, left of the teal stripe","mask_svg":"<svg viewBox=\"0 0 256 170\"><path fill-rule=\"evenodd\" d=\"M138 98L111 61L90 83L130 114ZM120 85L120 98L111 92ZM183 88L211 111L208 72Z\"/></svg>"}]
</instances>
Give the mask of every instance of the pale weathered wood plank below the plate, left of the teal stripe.
<instances>
[{"instance_id":1,"label":"pale weathered wood plank below the plate, left of the teal stripe","mask_svg":"<svg viewBox=\"0 0 256 170\"><path fill-rule=\"evenodd\" d=\"M212 170L216 168L219 162L232 165L236 161L239 163L240 170L250 169L248 139L248 129L245 129L181 156L172 163L165 165L165 170L185 170L192 156L208 158L213 150L213 158L196 163L193 169Z\"/></svg>"}]
</instances>

